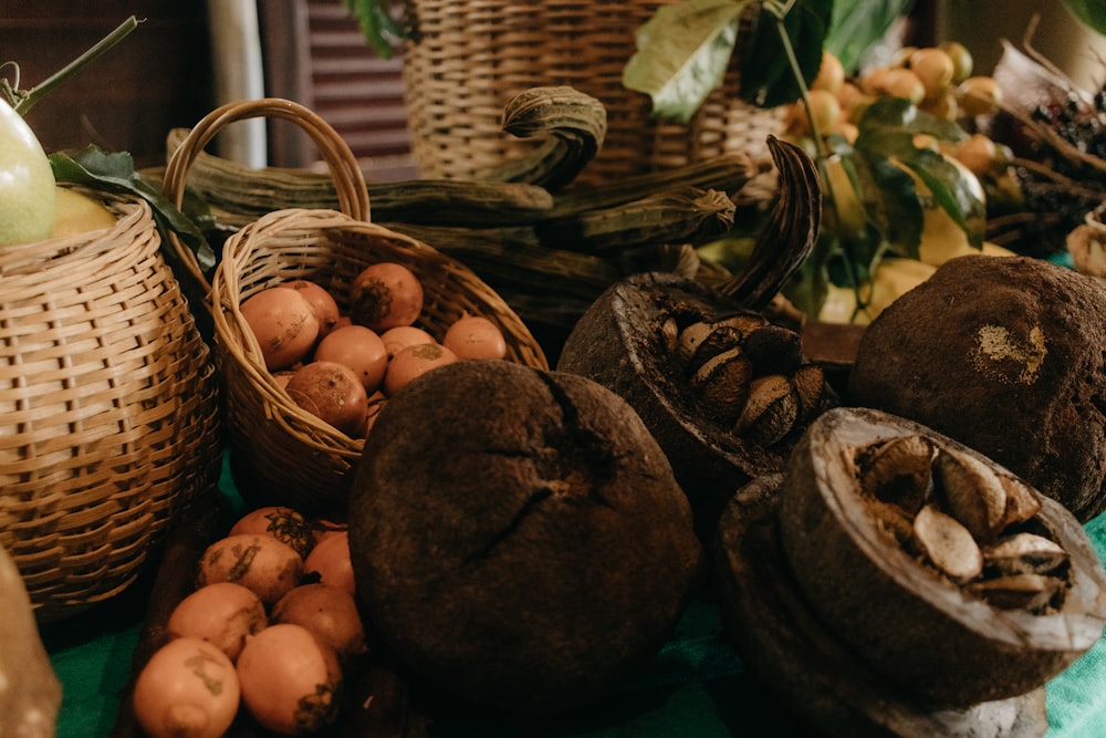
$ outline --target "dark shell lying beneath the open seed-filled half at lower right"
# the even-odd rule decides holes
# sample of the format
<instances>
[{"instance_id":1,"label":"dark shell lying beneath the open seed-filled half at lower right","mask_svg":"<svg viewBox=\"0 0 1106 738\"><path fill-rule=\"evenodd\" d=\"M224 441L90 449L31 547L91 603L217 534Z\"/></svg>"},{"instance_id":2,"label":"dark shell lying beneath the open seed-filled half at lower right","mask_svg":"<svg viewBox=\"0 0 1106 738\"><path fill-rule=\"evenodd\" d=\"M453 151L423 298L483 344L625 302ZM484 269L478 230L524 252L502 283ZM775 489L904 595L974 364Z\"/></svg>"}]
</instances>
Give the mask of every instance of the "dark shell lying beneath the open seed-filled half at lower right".
<instances>
[{"instance_id":1,"label":"dark shell lying beneath the open seed-filled half at lower right","mask_svg":"<svg viewBox=\"0 0 1106 738\"><path fill-rule=\"evenodd\" d=\"M783 474L765 475L727 505L713 541L722 624L758 682L794 709L773 711L780 735L827 738L1040 738L1043 687L963 708L932 708L860 662L813 612L780 542ZM801 723L801 724L797 724Z\"/></svg>"}]
</instances>

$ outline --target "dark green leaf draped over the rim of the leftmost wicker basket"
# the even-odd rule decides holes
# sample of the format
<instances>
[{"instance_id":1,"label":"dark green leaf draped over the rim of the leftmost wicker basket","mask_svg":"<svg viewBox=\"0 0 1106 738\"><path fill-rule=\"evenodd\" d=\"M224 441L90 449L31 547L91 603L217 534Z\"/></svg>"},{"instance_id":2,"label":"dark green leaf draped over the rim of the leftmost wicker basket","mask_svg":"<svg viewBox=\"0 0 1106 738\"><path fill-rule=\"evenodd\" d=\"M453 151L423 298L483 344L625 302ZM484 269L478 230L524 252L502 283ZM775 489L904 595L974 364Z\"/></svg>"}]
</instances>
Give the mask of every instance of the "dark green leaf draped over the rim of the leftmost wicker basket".
<instances>
[{"instance_id":1,"label":"dark green leaf draped over the rim of the leftmost wicker basket","mask_svg":"<svg viewBox=\"0 0 1106 738\"><path fill-rule=\"evenodd\" d=\"M154 211L154 220L161 232L173 230L196 254L201 270L215 267L216 257L204 231L191 218L181 212L161 194L160 184L135 170L134 158L126 152L107 153L96 146L66 154L50 155L50 166L58 181L71 181L93 189L140 197ZM175 254L171 254L175 260Z\"/></svg>"}]
</instances>

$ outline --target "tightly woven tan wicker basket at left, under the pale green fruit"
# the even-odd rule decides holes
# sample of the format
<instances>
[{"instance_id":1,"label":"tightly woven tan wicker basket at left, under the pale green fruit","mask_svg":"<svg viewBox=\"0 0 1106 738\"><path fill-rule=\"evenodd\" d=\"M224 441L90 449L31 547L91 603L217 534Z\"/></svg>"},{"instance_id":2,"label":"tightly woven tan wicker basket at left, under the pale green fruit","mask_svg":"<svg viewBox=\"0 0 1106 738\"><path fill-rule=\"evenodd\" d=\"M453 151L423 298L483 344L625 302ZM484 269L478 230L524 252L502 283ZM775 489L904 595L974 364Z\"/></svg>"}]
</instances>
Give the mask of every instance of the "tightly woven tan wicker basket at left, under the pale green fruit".
<instances>
[{"instance_id":1,"label":"tightly woven tan wicker basket at left, under the pale green fruit","mask_svg":"<svg viewBox=\"0 0 1106 738\"><path fill-rule=\"evenodd\" d=\"M212 490L215 368L145 200L0 250L0 545L40 622L119 593Z\"/></svg>"}]
</instances>

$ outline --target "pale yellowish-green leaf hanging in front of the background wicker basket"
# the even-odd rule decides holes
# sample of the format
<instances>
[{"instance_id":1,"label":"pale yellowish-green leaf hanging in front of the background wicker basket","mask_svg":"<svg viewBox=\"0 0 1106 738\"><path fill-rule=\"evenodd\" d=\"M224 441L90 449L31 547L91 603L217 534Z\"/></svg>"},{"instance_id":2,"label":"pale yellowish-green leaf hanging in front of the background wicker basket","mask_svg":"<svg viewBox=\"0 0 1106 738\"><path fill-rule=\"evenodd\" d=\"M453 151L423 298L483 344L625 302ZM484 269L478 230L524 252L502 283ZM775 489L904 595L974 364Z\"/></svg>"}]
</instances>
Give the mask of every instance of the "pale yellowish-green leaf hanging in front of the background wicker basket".
<instances>
[{"instance_id":1,"label":"pale yellowish-green leaf hanging in front of the background wicker basket","mask_svg":"<svg viewBox=\"0 0 1106 738\"><path fill-rule=\"evenodd\" d=\"M623 85L653 97L653 113L686 123L718 87L733 55L738 21L751 0L661 6L637 31Z\"/></svg>"}]
</instances>

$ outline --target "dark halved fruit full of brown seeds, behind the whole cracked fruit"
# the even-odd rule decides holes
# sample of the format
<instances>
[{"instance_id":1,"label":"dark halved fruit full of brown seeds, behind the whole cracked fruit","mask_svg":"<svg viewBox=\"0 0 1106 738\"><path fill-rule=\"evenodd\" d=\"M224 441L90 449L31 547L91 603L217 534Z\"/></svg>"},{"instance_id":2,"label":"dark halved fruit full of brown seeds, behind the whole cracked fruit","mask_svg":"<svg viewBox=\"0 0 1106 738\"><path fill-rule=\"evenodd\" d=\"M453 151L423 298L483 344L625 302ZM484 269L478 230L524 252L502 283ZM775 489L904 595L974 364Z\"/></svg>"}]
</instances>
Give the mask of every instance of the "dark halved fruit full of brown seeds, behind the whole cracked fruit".
<instances>
[{"instance_id":1,"label":"dark halved fruit full of brown seeds, behind the whole cracked fruit","mask_svg":"<svg viewBox=\"0 0 1106 738\"><path fill-rule=\"evenodd\" d=\"M607 289L576 323L557 370L595 380L637 410L702 540L733 491L782 469L811 419L837 402L822 367L803 360L797 333L659 272Z\"/></svg>"}]
</instances>

